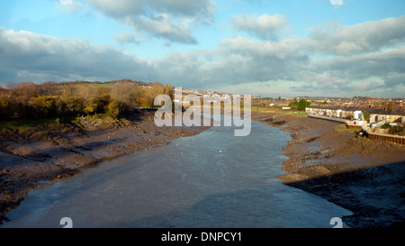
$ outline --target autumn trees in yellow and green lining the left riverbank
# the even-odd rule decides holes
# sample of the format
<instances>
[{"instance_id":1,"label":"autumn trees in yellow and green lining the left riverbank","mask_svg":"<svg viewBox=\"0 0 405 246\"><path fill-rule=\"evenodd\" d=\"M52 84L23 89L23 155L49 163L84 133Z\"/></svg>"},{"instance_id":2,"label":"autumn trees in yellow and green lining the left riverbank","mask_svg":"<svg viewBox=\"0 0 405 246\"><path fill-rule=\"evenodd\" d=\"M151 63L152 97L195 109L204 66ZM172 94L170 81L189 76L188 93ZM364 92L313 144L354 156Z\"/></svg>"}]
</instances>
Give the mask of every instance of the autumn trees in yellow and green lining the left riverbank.
<instances>
[{"instance_id":1,"label":"autumn trees in yellow and green lining the left riverbank","mask_svg":"<svg viewBox=\"0 0 405 246\"><path fill-rule=\"evenodd\" d=\"M137 107L153 107L157 95L173 98L173 87L150 83L139 86L134 81L32 82L9 83L0 87L0 121L37 120L91 114L109 114L113 118L128 114Z\"/></svg>"}]
</instances>

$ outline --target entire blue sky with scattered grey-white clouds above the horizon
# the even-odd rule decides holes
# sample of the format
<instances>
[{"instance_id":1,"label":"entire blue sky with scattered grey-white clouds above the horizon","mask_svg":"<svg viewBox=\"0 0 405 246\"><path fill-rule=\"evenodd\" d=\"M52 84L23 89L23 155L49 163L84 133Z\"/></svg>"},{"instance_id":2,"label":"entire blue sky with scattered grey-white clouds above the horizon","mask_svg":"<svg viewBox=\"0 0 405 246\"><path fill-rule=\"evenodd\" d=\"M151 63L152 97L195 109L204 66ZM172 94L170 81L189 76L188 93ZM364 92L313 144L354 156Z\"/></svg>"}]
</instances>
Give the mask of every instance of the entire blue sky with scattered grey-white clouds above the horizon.
<instances>
[{"instance_id":1,"label":"entire blue sky with scattered grey-white clouds above the horizon","mask_svg":"<svg viewBox=\"0 0 405 246\"><path fill-rule=\"evenodd\" d=\"M405 98L405 1L0 1L0 86L122 78Z\"/></svg>"}]
</instances>

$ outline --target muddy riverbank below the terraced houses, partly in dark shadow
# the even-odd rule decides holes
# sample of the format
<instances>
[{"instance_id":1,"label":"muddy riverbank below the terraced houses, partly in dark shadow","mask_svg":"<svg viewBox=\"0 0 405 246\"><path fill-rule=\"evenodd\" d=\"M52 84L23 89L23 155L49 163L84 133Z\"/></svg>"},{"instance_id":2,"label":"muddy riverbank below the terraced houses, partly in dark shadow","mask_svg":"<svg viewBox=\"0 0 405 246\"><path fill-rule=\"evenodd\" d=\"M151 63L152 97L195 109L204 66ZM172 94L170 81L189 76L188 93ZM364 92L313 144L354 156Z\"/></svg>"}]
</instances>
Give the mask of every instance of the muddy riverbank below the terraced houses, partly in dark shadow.
<instances>
[{"instance_id":1,"label":"muddy riverbank below the terraced houses, partly in dark shadow","mask_svg":"<svg viewBox=\"0 0 405 246\"><path fill-rule=\"evenodd\" d=\"M321 196L354 214L350 227L403 226L405 146L356 135L345 124L300 114L255 111L252 119L291 132L285 185Z\"/></svg>"}]
</instances>

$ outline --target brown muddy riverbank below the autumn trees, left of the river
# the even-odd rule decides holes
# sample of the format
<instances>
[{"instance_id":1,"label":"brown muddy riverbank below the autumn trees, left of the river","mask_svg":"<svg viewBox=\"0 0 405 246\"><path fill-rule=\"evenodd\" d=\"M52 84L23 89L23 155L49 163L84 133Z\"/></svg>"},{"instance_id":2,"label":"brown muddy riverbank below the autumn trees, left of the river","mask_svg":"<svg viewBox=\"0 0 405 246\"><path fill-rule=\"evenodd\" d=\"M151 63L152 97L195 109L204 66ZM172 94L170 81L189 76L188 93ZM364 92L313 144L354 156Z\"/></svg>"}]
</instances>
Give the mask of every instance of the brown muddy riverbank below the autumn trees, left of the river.
<instances>
[{"instance_id":1,"label":"brown muddy riverbank below the autumn trees, left of the river","mask_svg":"<svg viewBox=\"0 0 405 246\"><path fill-rule=\"evenodd\" d=\"M157 127L154 111L103 121L38 125L0 132L0 223L30 190L79 175L103 159L164 145L209 127Z\"/></svg>"}]
</instances>

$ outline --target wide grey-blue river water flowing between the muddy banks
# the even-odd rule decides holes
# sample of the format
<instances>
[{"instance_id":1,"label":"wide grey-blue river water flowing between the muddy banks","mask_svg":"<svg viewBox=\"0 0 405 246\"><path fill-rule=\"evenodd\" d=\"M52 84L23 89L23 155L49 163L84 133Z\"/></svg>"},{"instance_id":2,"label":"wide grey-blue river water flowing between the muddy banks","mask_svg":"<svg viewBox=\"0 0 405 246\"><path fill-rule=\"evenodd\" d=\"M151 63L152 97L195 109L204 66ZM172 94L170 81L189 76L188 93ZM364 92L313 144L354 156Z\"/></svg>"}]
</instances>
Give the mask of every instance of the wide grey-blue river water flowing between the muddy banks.
<instances>
[{"instance_id":1,"label":"wide grey-blue river water flowing between the muddy banks","mask_svg":"<svg viewBox=\"0 0 405 246\"><path fill-rule=\"evenodd\" d=\"M35 189L1 227L63 227L69 217L73 227L330 228L352 214L275 178L287 141L266 123L252 121L246 137L213 126Z\"/></svg>"}]
</instances>

